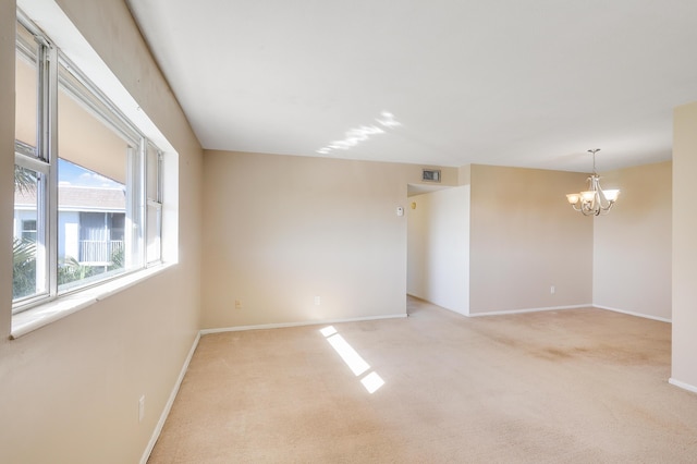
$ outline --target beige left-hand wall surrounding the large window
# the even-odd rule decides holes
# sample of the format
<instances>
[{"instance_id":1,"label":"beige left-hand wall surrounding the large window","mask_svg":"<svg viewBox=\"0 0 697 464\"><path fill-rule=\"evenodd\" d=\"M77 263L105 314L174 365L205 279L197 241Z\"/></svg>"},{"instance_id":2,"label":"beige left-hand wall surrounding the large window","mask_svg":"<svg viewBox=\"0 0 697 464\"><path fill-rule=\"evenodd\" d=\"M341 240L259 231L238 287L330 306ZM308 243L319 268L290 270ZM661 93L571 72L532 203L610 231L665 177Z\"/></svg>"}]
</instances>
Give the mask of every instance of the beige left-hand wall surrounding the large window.
<instances>
[{"instance_id":1,"label":"beige left-hand wall surrounding the large window","mask_svg":"<svg viewBox=\"0 0 697 464\"><path fill-rule=\"evenodd\" d=\"M0 461L134 463L198 329L201 149L121 0L61 7L179 151L180 264L10 341L11 221L0 227ZM12 215L14 2L0 1L0 215ZM138 423L138 398L146 414Z\"/></svg>"}]
</instances>

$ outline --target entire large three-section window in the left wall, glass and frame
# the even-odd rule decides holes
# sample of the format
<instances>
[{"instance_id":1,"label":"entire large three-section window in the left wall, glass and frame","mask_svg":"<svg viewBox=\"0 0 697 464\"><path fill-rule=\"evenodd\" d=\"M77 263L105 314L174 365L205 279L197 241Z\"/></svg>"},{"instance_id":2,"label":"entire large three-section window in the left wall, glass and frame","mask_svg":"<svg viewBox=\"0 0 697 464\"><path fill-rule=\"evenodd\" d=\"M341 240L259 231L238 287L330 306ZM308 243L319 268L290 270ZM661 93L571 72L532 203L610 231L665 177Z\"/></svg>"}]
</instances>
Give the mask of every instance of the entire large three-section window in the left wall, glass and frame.
<instances>
[{"instance_id":1,"label":"entire large three-section window in the left wall, glass and frame","mask_svg":"<svg viewBox=\"0 0 697 464\"><path fill-rule=\"evenodd\" d=\"M161 260L162 151L17 12L13 313Z\"/></svg>"}]
</instances>

